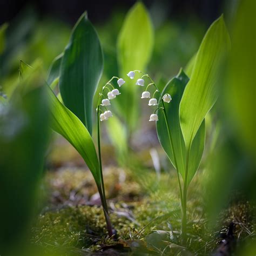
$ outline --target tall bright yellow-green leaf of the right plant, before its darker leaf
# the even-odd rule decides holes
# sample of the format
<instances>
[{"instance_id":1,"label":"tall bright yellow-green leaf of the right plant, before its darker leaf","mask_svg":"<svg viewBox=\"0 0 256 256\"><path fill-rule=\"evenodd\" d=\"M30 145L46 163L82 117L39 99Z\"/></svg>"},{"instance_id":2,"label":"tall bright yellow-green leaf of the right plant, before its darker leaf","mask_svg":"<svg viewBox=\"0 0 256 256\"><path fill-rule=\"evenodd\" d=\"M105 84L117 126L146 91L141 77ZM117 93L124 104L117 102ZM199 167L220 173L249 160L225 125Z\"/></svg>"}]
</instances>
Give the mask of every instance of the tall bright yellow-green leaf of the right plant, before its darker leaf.
<instances>
[{"instance_id":1,"label":"tall bright yellow-green leaf of the right plant, before its darker leaf","mask_svg":"<svg viewBox=\"0 0 256 256\"><path fill-rule=\"evenodd\" d=\"M221 16L206 32L180 102L180 125L187 149L217 99L217 73L229 48L230 38Z\"/></svg>"}]
</instances>

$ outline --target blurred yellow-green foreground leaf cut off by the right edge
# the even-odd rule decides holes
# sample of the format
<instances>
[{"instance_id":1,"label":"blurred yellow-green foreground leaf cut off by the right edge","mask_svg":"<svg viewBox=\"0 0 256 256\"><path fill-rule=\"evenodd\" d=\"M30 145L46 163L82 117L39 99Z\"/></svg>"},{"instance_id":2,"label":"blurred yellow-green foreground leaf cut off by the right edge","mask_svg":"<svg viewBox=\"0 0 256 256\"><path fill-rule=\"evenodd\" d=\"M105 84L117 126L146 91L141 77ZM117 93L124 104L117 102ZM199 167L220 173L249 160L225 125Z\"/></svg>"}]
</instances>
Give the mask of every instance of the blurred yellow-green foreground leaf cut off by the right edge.
<instances>
[{"instance_id":1,"label":"blurred yellow-green foreground leaf cut off by the right edge","mask_svg":"<svg viewBox=\"0 0 256 256\"><path fill-rule=\"evenodd\" d=\"M232 51L224 88L227 111L242 146L255 159L256 20L255 1L240 1L232 28Z\"/></svg>"}]
</instances>

